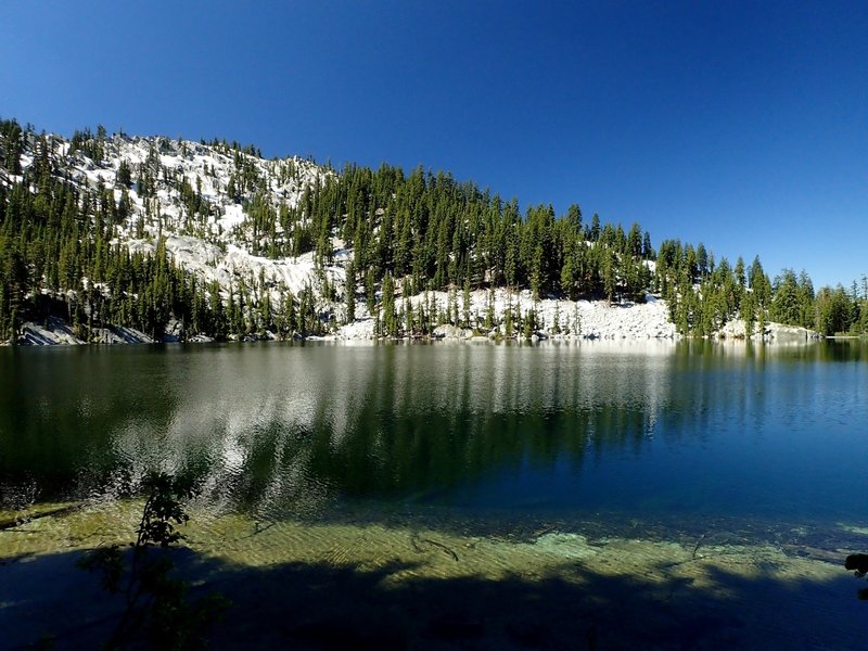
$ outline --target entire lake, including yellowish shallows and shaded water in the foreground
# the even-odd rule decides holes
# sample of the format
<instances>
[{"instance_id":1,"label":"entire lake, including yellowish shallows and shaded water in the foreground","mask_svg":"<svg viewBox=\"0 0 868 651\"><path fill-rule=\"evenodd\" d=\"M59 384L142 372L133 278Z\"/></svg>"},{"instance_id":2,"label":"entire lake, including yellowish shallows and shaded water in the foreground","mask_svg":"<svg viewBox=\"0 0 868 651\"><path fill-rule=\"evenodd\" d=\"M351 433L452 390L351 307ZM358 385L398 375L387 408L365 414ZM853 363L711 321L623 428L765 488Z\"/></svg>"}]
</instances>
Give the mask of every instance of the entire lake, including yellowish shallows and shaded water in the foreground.
<instances>
[{"instance_id":1,"label":"entire lake, including yellowish shallows and shaded water in the foreground","mask_svg":"<svg viewBox=\"0 0 868 651\"><path fill-rule=\"evenodd\" d=\"M227 647L860 648L867 434L859 342L5 348L0 604L187 469Z\"/></svg>"}]
</instances>

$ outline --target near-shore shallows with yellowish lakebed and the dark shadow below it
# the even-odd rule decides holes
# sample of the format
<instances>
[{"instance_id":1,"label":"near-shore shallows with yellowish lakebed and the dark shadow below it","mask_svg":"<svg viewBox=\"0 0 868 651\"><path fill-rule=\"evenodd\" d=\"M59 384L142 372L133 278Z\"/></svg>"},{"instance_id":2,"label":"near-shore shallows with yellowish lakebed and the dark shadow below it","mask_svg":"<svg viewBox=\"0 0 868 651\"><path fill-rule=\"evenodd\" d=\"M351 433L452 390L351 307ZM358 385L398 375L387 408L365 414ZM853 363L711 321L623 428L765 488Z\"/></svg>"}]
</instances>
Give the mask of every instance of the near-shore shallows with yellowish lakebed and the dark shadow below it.
<instances>
[{"instance_id":1,"label":"near-shore shallows with yellowish lakebed and the dark shadow below it","mask_svg":"<svg viewBox=\"0 0 868 651\"><path fill-rule=\"evenodd\" d=\"M75 562L131 540L141 502L26 521L65 506L0 513L22 520L0 532L2 649L98 646L118 616ZM868 607L843 569L868 529L843 523L376 505L270 521L190 513L179 573L194 595L232 602L209 629L217 649L856 649Z\"/></svg>"}]
</instances>

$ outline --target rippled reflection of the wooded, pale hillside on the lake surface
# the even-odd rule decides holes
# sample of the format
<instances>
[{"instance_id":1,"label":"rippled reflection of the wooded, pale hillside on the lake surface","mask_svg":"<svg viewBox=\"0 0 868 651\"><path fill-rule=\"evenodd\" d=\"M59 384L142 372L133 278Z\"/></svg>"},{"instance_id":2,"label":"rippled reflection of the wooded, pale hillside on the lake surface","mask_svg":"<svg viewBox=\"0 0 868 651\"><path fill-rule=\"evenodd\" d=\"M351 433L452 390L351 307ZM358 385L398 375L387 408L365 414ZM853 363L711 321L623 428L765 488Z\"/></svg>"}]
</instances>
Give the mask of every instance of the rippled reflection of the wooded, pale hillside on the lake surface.
<instances>
[{"instance_id":1,"label":"rippled reflection of the wooded, pale hillside on the lake surface","mask_svg":"<svg viewBox=\"0 0 868 651\"><path fill-rule=\"evenodd\" d=\"M0 375L0 499L26 482L42 499L117 490L145 467L190 463L207 469L214 500L257 509L449 489L527 467L580 472L589 455L639 455L655 437L761 426L776 392L810 398L787 381L793 365L864 352L710 342L16 352Z\"/></svg>"}]
</instances>

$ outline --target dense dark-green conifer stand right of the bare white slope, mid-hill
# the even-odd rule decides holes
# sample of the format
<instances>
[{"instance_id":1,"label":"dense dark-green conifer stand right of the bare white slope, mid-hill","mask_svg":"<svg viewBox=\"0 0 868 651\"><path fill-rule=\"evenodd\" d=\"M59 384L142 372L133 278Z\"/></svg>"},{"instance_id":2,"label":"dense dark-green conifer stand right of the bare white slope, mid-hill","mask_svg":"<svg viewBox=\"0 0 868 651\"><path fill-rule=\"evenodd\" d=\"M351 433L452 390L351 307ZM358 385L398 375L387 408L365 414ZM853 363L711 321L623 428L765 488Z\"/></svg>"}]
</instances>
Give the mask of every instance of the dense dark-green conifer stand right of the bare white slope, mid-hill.
<instances>
[{"instance_id":1,"label":"dense dark-green conifer stand right of the bare white slope, mid-hill","mask_svg":"<svg viewBox=\"0 0 868 651\"><path fill-rule=\"evenodd\" d=\"M411 294L509 286L536 297L641 301L651 281L654 252L639 225L625 233L620 225L601 227L596 215L586 225L577 205L561 217L550 205L522 215L518 200L445 173L350 165L286 213L292 253L312 250L329 261L337 234L352 245L362 286L391 277L406 279L403 291Z\"/></svg>"}]
</instances>

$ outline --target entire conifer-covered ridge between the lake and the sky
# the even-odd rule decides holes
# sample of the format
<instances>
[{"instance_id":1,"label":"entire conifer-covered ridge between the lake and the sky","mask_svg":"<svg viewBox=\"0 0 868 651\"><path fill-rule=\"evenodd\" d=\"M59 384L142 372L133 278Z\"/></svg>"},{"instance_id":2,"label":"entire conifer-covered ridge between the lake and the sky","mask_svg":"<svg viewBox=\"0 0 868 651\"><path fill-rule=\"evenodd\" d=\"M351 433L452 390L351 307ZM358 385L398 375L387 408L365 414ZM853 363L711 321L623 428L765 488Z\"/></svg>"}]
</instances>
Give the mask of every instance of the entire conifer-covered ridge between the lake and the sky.
<instances>
[{"instance_id":1,"label":"entire conifer-covered ridge between the lake and the sky","mask_svg":"<svg viewBox=\"0 0 868 651\"><path fill-rule=\"evenodd\" d=\"M193 248L195 265L193 253L178 253ZM281 276L268 264L302 259L311 263L304 273L281 267ZM552 331L533 308L497 312L495 289L610 304L655 294L685 335L711 335L736 318L748 334L769 321L868 332L865 277L815 291L804 272L770 279L758 257L730 263L677 240L654 247L639 224L588 218L578 205L563 215L550 205L522 212L516 199L447 173L336 171L266 161L255 146L226 141L102 127L64 139L0 120L4 341L52 317L85 341L118 326L154 339L169 328L181 339L326 334L362 314L383 336L425 335L443 323L507 336ZM480 291L492 308L470 314L469 295ZM449 299L437 304L429 292ZM408 299L418 295L425 297Z\"/></svg>"}]
</instances>

